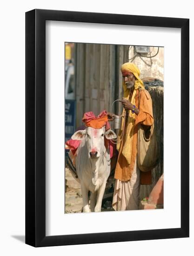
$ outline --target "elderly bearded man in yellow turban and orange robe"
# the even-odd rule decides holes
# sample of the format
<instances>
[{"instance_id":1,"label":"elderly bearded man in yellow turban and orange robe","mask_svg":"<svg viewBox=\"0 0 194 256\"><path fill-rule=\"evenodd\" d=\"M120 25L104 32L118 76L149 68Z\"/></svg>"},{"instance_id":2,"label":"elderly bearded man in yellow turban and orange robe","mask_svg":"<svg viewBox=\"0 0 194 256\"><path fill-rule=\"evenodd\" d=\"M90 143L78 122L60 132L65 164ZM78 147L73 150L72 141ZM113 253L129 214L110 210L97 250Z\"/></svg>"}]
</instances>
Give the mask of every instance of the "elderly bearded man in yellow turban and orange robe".
<instances>
[{"instance_id":1,"label":"elderly bearded man in yellow turban and orange robe","mask_svg":"<svg viewBox=\"0 0 194 256\"><path fill-rule=\"evenodd\" d=\"M119 154L114 174L113 208L136 210L140 204L140 184L152 183L151 171L141 172L136 162L138 124L141 123L145 131L149 131L154 123L152 99L140 80L138 67L127 62L121 66L121 72L123 119L117 144Z\"/></svg>"}]
</instances>

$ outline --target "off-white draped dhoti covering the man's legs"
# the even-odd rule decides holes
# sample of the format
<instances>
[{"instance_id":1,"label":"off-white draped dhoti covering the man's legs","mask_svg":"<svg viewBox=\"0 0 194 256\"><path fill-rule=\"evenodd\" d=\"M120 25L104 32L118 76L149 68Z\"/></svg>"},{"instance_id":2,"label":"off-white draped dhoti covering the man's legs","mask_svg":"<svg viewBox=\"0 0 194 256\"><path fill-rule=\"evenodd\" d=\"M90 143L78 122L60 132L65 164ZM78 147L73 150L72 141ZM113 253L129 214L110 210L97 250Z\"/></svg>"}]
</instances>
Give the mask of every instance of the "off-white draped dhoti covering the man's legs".
<instances>
[{"instance_id":1,"label":"off-white draped dhoti covering the man's legs","mask_svg":"<svg viewBox=\"0 0 194 256\"><path fill-rule=\"evenodd\" d=\"M140 204L140 169L135 161L131 179L122 182L115 181L113 194L113 209L115 211L138 210Z\"/></svg>"}]
</instances>

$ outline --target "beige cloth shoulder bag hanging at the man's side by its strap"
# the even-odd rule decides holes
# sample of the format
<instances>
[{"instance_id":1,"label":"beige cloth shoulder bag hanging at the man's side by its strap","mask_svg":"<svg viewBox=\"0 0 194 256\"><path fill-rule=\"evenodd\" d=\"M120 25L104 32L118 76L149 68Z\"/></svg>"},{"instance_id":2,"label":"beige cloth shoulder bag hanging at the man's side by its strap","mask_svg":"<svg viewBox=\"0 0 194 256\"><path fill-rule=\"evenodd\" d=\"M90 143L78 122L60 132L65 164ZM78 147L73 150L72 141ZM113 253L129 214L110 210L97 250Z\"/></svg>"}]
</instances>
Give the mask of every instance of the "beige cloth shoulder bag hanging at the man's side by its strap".
<instances>
[{"instance_id":1,"label":"beige cloth shoulder bag hanging at the man's side by its strap","mask_svg":"<svg viewBox=\"0 0 194 256\"><path fill-rule=\"evenodd\" d=\"M140 109L140 90L139 90ZM154 124L146 130L138 124L137 165L142 172L152 170L160 162L160 154Z\"/></svg>"}]
</instances>

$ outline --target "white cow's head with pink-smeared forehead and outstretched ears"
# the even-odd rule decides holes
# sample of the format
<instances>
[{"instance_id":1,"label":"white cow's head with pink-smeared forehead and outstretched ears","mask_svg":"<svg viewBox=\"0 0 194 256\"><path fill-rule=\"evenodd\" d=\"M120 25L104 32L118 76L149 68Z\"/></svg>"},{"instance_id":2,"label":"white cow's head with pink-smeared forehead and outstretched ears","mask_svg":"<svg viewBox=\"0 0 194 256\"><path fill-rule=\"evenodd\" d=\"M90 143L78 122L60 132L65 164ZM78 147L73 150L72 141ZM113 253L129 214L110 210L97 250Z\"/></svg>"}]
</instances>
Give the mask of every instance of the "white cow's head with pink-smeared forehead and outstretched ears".
<instances>
[{"instance_id":1,"label":"white cow's head with pink-smeared forehead and outstretched ears","mask_svg":"<svg viewBox=\"0 0 194 256\"><path fill-rule=\"evenodd\" d=\"M105 127L95 129L87 127L85 130L79 130L72 135L73 140L85 139L89 158L98 158L103 153L104 136L108 139L116 139L116 134L111 129L105 131Z\"/></svg>"}]
</instances>

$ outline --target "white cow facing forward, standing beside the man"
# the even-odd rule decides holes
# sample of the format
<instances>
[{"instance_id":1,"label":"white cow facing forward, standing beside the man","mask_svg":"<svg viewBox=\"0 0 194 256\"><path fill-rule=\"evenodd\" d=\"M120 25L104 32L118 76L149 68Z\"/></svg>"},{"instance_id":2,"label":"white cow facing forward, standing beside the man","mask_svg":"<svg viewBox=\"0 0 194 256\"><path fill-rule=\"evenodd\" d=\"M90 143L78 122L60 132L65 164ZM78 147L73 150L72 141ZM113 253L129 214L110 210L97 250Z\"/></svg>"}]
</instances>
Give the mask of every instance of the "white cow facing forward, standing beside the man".
<instances>
[{"instance_id":1,"label":"white cow facing forward, standing beside the man","mask_svg":"<svg viewBox=\"0 0 194 256\"><path fill-rule=\"evenodd\" d=\"M77 149L76 169L81 184L83 199L83 212L90 212L88 205L88 191L91 191L91 211L101 211L107 178L110 175L110 153L105 148L104 136L110 140L115 139L114 131L105 127L94 129L87 127L72 135L73 140L81 140Z\"/></svg>"}]
</instances>

